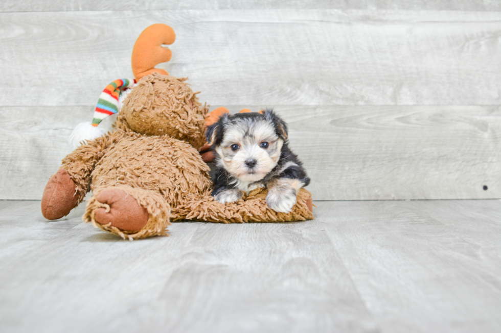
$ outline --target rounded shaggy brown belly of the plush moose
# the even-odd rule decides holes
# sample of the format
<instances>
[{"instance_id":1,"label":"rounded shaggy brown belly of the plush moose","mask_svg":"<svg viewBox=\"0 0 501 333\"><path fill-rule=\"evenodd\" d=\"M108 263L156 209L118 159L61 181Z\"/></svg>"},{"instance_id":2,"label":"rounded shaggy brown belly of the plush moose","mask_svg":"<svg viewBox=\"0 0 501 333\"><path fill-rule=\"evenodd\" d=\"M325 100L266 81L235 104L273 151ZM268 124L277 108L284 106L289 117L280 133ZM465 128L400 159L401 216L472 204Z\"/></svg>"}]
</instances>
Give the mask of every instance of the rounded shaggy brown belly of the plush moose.
<instances>
[{"instance_id":1,"label":"rounded shaggy brown belly of the plush moose","mask_svg":"<svg viewBox=\"0 0 501 333\"><path fill-rule=\"evenodd\" d=\"M138 133L125 133L92 172L93 191L117 185L159 192L172 207L187 194L211 188L209 167L193 146L167 135Z\"/></svg>"}]
</instances>

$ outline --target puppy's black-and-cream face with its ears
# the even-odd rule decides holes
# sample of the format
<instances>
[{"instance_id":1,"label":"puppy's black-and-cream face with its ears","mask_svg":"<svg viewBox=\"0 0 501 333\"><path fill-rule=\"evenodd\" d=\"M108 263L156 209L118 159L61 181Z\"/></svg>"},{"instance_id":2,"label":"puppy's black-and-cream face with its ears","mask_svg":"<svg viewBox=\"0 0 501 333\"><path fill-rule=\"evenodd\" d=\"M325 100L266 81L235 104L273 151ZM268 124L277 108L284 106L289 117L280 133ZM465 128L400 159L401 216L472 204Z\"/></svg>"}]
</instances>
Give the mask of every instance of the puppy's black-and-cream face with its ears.
<instances>
[{"instance_id":1,"label":"puppy's black-and-cream face with its ears","mask_svg":"<svg viewBox=\"0 0 501 333\"><path fill-rule=\"evenodd\" d=\"M243 182L264 178L277 165L287 138L285 123L272 111L225 115L213 126L207 137L219 165Z\"/></svg>"}]
</instances>

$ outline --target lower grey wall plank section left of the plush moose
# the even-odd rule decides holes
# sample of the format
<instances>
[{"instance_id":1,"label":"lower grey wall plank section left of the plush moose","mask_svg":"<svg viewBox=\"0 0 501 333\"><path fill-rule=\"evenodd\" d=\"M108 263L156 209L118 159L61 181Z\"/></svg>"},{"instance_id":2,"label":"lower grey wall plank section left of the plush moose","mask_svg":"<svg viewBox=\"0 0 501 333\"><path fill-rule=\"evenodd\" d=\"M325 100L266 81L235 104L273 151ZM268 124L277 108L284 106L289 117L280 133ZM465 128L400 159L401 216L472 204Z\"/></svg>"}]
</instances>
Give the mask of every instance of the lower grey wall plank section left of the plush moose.
<instances>
[{"instance_id":1,"label":"lower grey wall plank section left of the plush moose","mask_svg":"<svg viewBox=\"0 0 501 333\"><path fill-rule=\"evenodd\" d=\"M56 173L75 126L90 121L92 107L4 107L0 116L0 199L41 199L45 184Z\"/></svg>"}]
</instances>

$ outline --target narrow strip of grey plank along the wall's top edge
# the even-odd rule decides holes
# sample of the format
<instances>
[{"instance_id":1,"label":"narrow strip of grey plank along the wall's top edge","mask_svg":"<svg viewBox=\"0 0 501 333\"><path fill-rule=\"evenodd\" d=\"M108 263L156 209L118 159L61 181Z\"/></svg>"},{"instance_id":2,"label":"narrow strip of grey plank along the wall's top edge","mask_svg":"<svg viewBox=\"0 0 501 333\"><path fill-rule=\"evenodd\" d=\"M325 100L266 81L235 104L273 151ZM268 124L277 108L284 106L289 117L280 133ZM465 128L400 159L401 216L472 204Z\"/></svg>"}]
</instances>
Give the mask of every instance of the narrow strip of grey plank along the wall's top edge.
<instances>
[{"instance_id":1,"label":"narrow strip of grey plank along the wall's top edge","mask_svg":"<svg viewBox=\"0 0 501 333\"><path fill-rule=\"evenodd\" d=\"M181 9L379 9L379 10L501 10L495 0L184 0L184 1L132 1L124 0L117 5L110 0L3 0L0 12L39 11L98 11L98 10L181 10Z\"/></svg>"}]
</instances>

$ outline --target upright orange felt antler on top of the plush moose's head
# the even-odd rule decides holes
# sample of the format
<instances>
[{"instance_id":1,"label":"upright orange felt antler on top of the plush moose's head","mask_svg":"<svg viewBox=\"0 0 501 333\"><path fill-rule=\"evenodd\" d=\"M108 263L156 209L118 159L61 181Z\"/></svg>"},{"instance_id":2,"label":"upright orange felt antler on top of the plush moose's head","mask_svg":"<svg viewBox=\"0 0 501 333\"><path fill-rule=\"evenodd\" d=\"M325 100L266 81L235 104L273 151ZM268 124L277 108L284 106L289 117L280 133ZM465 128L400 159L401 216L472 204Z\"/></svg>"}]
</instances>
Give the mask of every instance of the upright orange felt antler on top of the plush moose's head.
<instances>
[{"instance_id":1,"label":"upright orange felt antler on top of the plush moose's head","mask_svg":"<svg viewBox=\"0 0 501 333\"><path fill-rule=\"evenodd\" d=\"M169 75L165 70L154 67L171 59L172 51L162 45L170 45L174 40L176 40L174 29L167 24L156 23L146 28L132 48L131 62L134 77L140 80L153 72Z\"/></svg>"}]
</instances>

